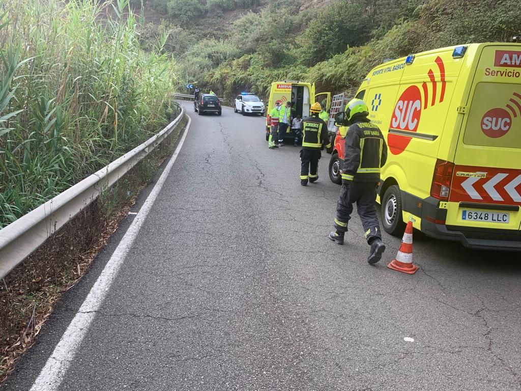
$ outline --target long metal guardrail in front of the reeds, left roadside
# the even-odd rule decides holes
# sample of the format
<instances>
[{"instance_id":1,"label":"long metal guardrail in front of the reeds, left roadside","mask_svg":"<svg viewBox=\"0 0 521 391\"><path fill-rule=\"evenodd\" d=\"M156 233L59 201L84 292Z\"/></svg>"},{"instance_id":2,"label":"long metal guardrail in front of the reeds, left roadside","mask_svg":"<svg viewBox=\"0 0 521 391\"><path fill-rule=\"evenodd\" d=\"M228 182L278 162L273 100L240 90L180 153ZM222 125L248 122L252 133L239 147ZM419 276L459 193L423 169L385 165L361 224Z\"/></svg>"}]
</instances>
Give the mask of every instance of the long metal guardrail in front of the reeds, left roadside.
<instances>
[{"instance_id":1,"label":"long metal guardrail in front of the reeds, left roadside","mask_svg":"<svg viewBox=\"0 0 521 391\"><path fill-rule=\"evenodd\" d=\"M0 278L38 249L51 235L112 186L148 155L179 124L177 116L166 128L108 166L58 194L28 214L0 229Z\"/></svg>"}]
</instances>

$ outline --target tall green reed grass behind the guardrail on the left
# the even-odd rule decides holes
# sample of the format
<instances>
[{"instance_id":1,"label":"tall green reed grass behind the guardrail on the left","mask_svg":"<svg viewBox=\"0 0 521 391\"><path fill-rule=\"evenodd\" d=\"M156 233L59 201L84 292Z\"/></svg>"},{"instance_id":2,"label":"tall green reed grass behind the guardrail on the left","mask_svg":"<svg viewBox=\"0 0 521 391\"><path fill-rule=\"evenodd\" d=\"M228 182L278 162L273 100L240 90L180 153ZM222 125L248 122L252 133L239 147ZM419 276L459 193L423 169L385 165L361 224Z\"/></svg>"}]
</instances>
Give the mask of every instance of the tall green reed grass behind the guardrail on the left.
<instances>
[{"instance_id":1,"label":"tall green reed grass behind the guardrail on the left","mask_svg":"<svg viewBox=\"0 0 521 391\"><path fill-rule=\"evenodd\" d=\"M0 228L168 118L175 63L162 54L167 36L145 53L129 0L96 3L0 3ZM101 23L105 15L113 17Z\"/></svg>"}]
</instances>

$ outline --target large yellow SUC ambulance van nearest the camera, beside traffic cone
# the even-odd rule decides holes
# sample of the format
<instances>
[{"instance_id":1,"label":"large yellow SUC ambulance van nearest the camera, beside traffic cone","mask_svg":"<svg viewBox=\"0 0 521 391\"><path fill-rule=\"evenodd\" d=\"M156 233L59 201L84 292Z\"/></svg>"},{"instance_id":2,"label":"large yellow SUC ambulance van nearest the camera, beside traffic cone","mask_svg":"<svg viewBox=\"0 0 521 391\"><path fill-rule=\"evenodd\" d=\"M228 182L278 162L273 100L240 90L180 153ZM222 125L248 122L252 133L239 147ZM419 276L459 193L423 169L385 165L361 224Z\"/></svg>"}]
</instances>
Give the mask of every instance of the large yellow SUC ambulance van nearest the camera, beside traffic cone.
<instances>
[{"instance_id":1,"label":"large yellow SUC ambulance van nearest the camera, beside traffic cone","mask_svg":"<svg viewBox=\"0 0 521 391\"><path fill-rule=\"evenodd\" d=\"M521 44L418 53L369 72L356 94L389 158L382 225L482 249L521 251Z\"/></svg>"}]
</instances>

